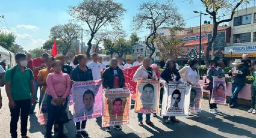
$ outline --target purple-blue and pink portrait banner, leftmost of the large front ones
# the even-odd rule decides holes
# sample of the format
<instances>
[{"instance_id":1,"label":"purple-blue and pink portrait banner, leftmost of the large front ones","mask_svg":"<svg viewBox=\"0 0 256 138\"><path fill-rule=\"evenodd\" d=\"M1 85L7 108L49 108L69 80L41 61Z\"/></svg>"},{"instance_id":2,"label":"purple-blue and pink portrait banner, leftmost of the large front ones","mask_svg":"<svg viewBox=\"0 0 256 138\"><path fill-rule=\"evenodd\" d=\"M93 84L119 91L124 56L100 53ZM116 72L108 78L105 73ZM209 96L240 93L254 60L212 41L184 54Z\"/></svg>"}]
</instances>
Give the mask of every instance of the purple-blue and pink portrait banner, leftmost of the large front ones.
<instances>
[{"instance_id":1,"label":"purple-blue and pink portrait banner, leftmost of the large front ones","mask_svg":"<svg viewBox=\"0 0 256 138\"><path fill-rule=\"evenodd\" d=\"M73 121L79 122L102 116L102 95L102 79L74 82L72 85Z\"/></svg>"}]
</instances>

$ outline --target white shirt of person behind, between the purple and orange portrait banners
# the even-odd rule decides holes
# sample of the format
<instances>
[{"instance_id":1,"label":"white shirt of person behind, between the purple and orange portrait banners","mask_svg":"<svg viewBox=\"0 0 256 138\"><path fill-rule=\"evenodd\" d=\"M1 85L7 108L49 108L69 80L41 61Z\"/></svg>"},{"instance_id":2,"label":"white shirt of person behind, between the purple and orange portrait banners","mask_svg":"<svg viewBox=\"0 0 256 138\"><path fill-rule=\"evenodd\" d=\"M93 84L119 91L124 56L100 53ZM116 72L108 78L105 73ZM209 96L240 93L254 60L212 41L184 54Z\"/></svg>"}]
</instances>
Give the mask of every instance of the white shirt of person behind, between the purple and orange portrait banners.
<instances>
[{"instance_id":1,"label":"white shirt of person behind, between the purple and orange portrait banners","mask_svg":"<svg viewBox=\"0 0 256 138\"><path fill-rule=\"evenodd\" d=\"M101 79L102 65L99 62L90 62L88 67L92 69L93 80Z\"/></svg>"}]
</instances>

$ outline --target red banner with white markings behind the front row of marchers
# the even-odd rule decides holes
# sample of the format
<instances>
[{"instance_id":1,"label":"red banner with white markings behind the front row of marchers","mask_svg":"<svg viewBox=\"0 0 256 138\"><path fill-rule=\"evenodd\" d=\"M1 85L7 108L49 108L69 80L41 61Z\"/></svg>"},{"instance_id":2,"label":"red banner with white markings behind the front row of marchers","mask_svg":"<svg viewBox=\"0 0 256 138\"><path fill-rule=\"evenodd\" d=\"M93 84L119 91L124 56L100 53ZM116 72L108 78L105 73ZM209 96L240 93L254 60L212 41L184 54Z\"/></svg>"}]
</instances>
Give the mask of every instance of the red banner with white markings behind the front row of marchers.
<instances>
[{"instance_id":1,"label":"red banner with white markings behind the front row of marchers","mask_svg":"<svg viewBox=\"0 0 256 138\"><path fill-rule=\"evenodd\" d=\"M130 89L132 99L136 98L136 86L137 86L137 83L133 81L133 76L139 67L140 65L137 65L137 66L122 70L123 76L125 76L125 88Z\"/></svg>"}]
</instances>

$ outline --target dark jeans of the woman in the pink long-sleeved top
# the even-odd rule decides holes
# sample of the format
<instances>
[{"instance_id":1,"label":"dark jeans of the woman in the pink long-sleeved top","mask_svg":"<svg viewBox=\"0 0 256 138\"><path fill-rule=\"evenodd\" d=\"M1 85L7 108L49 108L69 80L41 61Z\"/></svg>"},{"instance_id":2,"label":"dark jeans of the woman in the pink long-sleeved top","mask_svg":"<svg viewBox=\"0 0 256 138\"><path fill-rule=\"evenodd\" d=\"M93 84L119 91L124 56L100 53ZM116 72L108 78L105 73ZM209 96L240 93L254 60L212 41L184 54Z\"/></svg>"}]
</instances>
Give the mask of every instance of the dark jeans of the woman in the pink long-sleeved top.
<instances>
[{"instance_id":1,"label":"dark jeans of the woman in the pink long-sleeved top","mask_svg":"<svg viewBox=\"0 0 256 138\"><path fill-rule=\"evenodd\" d=\"M46 125L46 136L50 137L52 133L52 125L54 125L54 118L55 118L55 110L57 106L53 106L51 104L52 96L47 95L47 109L48 109L48 121ZM67 107L67 99L63 106L61 106L61 110L66 110ZM63 134L63 123L58 123L58 134Z\"/></svg>"}]
</instances>

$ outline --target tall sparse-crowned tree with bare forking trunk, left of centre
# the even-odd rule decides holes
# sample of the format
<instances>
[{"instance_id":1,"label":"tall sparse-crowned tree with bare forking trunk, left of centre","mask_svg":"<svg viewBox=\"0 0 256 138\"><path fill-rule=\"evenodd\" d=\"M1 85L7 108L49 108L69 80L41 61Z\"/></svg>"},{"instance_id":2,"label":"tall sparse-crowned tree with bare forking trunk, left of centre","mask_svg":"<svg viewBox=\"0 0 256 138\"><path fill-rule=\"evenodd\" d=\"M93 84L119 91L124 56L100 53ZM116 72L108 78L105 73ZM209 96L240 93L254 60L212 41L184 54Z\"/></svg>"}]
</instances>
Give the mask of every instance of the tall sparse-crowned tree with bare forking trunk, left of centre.
<instances>
[{"instance_id":1,"label":"tall sparse-crowned tree with bare forking trunk, left of centre","mask_svg":"<svg viewBox=\"0 0 256 138\"><path fill-rule=\"evenodd\" d=\"M113 0L84 0L80 4L70 7L69 14L75 19L85 22L90 30L87 42L87 56L90 56L92 40L102 26L119 26L125 9L119 2Z\"/></svg>"}]
</instances>

